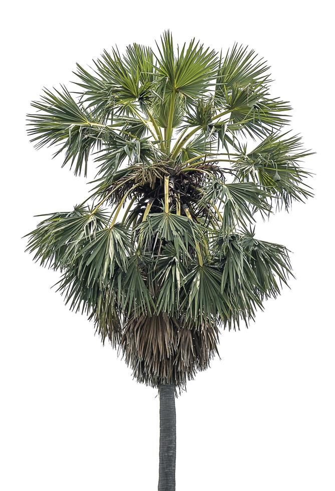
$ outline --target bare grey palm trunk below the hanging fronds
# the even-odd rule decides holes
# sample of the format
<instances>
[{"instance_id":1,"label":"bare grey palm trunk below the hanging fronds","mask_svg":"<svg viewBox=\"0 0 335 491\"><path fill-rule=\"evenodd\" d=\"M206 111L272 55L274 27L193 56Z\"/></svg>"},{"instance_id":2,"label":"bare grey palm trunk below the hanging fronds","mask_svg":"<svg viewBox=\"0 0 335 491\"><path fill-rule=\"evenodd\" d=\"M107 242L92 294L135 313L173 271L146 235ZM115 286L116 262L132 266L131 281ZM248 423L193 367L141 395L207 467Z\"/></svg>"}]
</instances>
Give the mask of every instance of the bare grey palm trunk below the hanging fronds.
<instances>
[{"instance_id":1,"label":"bare grey palm trunk below the hanging fronds","mask_svg":"<svg viewBox=\"0 0 335 491\"><path fill-rule=\"evenodd\" d=\"M158 491L176 489L176 408L174 385L159 386L159 482Z\"/></svg>"}]
</instances>

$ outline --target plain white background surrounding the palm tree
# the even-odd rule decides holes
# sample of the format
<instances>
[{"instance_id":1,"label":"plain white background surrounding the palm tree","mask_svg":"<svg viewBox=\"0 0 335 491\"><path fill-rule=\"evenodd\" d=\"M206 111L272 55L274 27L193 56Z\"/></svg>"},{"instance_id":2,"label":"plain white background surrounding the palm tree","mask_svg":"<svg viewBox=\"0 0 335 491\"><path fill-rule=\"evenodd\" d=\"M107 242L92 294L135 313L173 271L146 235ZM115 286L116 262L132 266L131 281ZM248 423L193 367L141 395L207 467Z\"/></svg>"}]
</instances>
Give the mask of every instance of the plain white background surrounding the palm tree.
<instances>
[{"instance_id":1,"label":"plain white background surrounding the palm tree","mask_svg":"<svg viewBox=\"0 0 335 491\"><path fill-rule=\"evenodd\" d=\"M52 149L29 143L25 114L43 86L73 80L115 43L154 45L164 29L226 50L248 44L272 66L273 96L316 155L315 197L259 224L294 252L296 280L248 330L221 335L221 360L177 406L177 491L333 491L332 16L327 2L12 2L1 42L1 466L4 491L157 488L158 398L132 380L85 317L24 254L34 214L88 192ZM330 8L330 2L329 2ZM4 6L3 6L4 9Z\"/></svg>"}]
</instances>

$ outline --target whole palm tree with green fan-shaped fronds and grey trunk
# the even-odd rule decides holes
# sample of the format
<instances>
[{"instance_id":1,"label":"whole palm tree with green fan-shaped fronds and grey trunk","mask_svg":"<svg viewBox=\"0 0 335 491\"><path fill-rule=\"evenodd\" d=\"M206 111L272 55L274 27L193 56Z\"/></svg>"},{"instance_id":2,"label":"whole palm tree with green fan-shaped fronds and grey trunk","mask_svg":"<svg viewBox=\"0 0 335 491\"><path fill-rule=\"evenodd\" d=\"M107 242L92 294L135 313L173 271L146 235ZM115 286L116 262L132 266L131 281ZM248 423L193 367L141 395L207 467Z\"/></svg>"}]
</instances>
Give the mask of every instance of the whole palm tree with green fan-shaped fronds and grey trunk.
<instances>
[{"instance_id":1,"label":"whole palm tree with green fan-shaped fronds and grey trunk","mask_svg":"<svg viewBox=\"0 0 335 491\"><path fill-rule=\"evenodd\" d=\"M28 251L59 271L58 291L160 394L159 485L175 489L175 395L292 275L284 246L254 222L311 196L308 152L282 130L288 103L266 63L234 45L138 44L77 65L77 92L45 90L29 115L36 146L59 145L76 175L97 165L88 199L50 213ZM73 95L72 95L73 94Z\"/></svg>"}]
</instances>

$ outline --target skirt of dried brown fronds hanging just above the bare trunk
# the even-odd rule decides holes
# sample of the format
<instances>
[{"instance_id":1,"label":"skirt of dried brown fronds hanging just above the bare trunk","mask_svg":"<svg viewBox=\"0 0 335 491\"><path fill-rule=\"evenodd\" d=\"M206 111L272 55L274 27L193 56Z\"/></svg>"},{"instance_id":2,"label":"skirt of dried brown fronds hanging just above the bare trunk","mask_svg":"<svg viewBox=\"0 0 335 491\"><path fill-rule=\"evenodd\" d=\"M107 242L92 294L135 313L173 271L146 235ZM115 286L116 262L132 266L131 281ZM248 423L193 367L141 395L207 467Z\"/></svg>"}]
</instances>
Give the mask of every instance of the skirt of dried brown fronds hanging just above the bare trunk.
<instances>
[{"instance_id":1,"label":"skirt of dried brown fronds hanging just above the bare trunk","mask_svg":"<svg viewBox=\"0 0 335 491\"><path fill-rule=\"evenodd\" d=\"M218 328L192 328L165 314L131 318L121 339L126 363L138 382L185 386L217 353Z\"/></svg>"}]
</instances>

